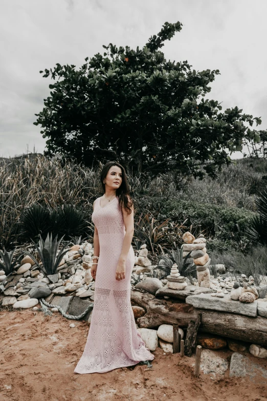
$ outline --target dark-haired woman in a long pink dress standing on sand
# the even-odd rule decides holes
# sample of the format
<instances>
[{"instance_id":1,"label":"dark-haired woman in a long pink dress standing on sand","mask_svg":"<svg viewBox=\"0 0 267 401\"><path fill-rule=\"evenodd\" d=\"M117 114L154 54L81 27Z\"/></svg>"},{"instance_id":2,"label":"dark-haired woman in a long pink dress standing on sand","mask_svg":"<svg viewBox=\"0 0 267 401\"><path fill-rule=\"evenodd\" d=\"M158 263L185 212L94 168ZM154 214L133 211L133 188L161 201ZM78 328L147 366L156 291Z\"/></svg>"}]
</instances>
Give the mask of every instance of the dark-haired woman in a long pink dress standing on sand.
<instances>
[{"instance_id":1,"label":"dark-haired woman in a long pink dress standing on sand","mask_svg":"<svg viewBox=\"0 0 267 401\"><path fill-rule=\"evenodd\" d=\"M110 161L103 166L100 179L104 195L94 201L92 214L95 301L75 373L104 373L154 358L137 331L130 303L134 209L124 167Z\"/></svg>"}]
</instances>

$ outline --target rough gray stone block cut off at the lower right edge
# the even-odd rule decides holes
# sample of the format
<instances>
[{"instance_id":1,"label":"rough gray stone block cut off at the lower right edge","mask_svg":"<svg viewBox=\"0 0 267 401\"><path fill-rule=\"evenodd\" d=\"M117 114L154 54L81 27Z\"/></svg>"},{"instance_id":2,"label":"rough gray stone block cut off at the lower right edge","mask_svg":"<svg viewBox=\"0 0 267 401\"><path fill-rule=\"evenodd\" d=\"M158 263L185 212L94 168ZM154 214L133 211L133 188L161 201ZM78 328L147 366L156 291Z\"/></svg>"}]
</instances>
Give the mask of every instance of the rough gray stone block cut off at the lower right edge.
<instances>
[{"instance_id":1,"label":"rough gray stone block cut off at the lower right edge","mask_svg":"<svg viewBox=\"0 0 267 401\"><path fill-rule=\"evenodd\" d=\"M266 384L267 370L252 362L247 356L234 352L230 362L230 377L246 377L251 382L257 379L257 383Z\"/></svg>"}]
</instances>

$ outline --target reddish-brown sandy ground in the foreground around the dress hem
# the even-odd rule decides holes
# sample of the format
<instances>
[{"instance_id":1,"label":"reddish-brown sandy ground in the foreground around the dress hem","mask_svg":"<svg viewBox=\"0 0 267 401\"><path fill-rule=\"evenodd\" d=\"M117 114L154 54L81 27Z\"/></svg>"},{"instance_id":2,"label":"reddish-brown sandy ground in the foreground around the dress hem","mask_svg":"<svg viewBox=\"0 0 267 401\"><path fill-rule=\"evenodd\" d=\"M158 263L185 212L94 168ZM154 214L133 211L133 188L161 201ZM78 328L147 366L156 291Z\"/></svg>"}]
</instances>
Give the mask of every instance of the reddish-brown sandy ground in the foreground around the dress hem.
<instances>
[{"instance_id":1,"label":"reddish-brown sandy ground in the foreground around the dress hem","mask_svg":"<svg viewBox=\"0 0 267 401\"><path fill-rule=\"evenodd\" d=\"M77 374L89 330L85 321L70 328L74 321L60 313L2 310L0 322L1 401L267 400L267 383L255 377L230 378L228 371L223 378L203 373L195 378L194 357L164 354L160 348L153 352L152 368L138 364L133 370Z\"/></svg>"}]
</instances>

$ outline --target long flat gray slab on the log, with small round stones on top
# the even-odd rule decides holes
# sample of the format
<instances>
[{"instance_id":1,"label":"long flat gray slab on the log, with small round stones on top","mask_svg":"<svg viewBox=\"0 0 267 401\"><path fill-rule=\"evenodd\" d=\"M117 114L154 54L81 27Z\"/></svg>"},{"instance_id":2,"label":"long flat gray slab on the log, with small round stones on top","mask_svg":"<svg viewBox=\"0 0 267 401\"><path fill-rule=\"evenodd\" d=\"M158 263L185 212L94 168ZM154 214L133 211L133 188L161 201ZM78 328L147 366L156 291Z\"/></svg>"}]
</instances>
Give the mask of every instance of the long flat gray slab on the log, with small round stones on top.
<instances>
[{"instance_id":1,"label":"long flat gray slab on the log, with small round stones on top","mask_svg":"<svg viewBox=\"0 0 267 401\"><path fill-rule=\"evenodd\" d=\"M202 293L187 297L186 303L193 305L195 308L220 310L223 312L244 314L246 316L256 316L258 301L245 304L232 300L230 294L225 294L224 298L218 298L212 297L209 293Z\"/></svg>"}]
</instances>

